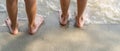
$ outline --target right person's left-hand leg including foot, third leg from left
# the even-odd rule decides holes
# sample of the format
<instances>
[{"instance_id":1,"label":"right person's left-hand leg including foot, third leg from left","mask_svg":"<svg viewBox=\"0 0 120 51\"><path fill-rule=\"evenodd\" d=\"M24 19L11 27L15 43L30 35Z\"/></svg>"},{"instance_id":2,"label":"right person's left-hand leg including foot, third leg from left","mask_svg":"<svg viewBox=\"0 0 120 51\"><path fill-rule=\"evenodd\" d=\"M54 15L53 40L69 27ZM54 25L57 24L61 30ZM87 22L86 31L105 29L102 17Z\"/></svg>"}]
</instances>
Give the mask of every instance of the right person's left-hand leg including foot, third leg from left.
<instances>
[{"instance_id":1,"label":"right person's left-hand leg including foot, third leg from left","mask_svg":"<svg viewBox=\"0 0 120 51\"><path fill-rule=\"evenodd\" d=\"M67 24L67 19L68 19L68 9L69 9L69 4L70 4L70 0L60 0L61 3L61 10L62 10L62 14L61 14L61 24L62 25L66 25Z\"/></svg>"}]
</instances>

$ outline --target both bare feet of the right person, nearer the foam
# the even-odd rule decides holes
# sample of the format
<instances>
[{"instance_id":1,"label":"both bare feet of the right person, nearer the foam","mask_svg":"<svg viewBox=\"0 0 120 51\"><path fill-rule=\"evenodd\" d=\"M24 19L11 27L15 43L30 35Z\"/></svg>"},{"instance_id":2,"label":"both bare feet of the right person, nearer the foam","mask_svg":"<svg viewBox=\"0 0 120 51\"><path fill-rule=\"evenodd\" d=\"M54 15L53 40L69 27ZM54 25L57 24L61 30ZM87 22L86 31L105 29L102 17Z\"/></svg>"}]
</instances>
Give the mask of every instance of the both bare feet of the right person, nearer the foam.
<instances>
[{"instance_id":1,"label":"both bare feet of the right person, nearer the foam","mask_svg":"<svg viewBox=\"0 0 120 51\"><path fill-rule=\"evenodd\" d=\"M69 18L69 14L66 14L66 15L61 14L61 16L60 16L60 24L62 26L65 26L69 22L68 18ZM75 26L78 27L78 28L82 28L84 26L84 18L83 18L83 16L81 16L81 17L76 16L75 17Z\"/></svg>"}]
</instances>

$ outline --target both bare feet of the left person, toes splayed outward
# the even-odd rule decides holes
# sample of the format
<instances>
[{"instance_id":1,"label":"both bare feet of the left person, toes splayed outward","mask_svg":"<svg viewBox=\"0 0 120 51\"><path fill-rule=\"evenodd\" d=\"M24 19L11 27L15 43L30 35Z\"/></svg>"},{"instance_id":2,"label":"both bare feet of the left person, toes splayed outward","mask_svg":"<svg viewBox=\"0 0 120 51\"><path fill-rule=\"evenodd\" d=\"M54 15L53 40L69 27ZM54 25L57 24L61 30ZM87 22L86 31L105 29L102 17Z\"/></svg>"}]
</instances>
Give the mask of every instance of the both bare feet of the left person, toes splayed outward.
<instances>
[{"instance_id":1,"label":"both bare feet of the left person, toes splayed outward","mask_svg":"<svg viewBox=\"0 0 120 51\"><path fill-rule=\"evenodd\" d=\"M29 26L29 29L28 29L28 32L33 35L34 33L36 33L36 31L38 30L38 28L42 25L44 19L42 16L38 16L35 18L35 22L33 25L28 25ZM18 24L16 26L13 26L11 24L11 21L9 18L7 18L5 20L6 22L6 25L8 26L9 30L10 30L10 33L13 34L13 35L16 35L19 31L18 31Z\"/></svg>"}]
</instances>

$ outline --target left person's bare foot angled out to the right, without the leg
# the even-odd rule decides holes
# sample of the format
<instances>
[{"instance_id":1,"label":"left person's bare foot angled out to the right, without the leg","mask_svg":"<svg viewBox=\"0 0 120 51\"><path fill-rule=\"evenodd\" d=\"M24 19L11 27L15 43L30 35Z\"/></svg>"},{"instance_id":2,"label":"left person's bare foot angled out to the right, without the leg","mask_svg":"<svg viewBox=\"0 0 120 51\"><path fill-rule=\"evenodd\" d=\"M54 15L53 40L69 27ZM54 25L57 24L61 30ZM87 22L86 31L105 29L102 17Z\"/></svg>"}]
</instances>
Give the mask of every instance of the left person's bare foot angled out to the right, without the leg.
<instances>
[{"instance_id":1,"label":"left person's bare foot angled out to the right, without the leg","mask_svg":"<svg viewBox=\"0 0 120 51\"><path fill-rule=\"evenodd\" d=\"M38 28L42 25L43 21L44 18L42 16L35 17L35 23L32 26L29 25L29 33L31 35L35 34Z\"/></svg>"}]
</instances>

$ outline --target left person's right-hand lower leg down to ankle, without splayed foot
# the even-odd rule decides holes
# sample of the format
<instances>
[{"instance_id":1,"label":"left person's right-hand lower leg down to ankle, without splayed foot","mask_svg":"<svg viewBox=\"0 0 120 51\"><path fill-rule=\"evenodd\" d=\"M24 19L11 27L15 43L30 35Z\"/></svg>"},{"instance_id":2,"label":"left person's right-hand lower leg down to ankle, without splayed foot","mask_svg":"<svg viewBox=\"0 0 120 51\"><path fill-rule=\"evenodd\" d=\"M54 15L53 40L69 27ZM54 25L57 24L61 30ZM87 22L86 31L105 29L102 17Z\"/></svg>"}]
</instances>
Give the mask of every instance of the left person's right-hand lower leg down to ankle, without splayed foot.
<instances>
[{"instance_id":1,"label":"left person's right-hand lower leg down to ankle, without splayed foot","mask_svg":"<svg viewBox=\"0 0 120 51\"><path fill-rule=\"evenodd\" d=\"M29 28L35 28L36 0L25 0Z\"/></svg>"}]
</instances>

